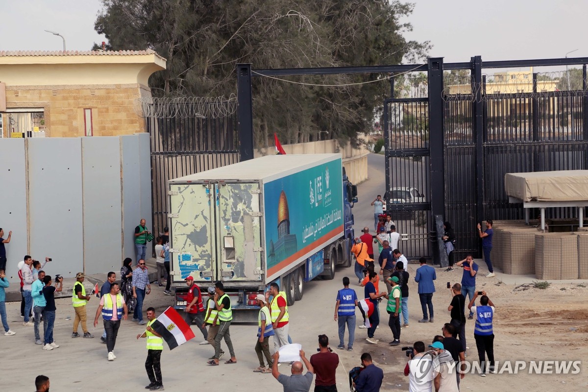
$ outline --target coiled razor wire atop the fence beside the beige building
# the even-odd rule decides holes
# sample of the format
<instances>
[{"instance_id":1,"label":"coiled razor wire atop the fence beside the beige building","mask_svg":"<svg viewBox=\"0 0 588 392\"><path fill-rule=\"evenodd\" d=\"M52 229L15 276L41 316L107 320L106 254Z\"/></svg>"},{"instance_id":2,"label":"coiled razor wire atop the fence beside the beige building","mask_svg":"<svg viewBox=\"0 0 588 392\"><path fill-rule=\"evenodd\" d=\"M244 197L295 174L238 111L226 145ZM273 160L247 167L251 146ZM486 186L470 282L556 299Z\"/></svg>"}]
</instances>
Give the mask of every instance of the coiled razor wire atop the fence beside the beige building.
<instances>
[{"instance_id":1,"label":"coiled razor wire atop the fence beside the beige building","mask_svg":"<svg viewBox=\"0 0 588 392\"><path fill-rule=\"evenodd\" d=\"M222 118L237 110L237 98L218 97L181 97L135 99L135 110L143 118Z\"/></svg>"}]
</instances>

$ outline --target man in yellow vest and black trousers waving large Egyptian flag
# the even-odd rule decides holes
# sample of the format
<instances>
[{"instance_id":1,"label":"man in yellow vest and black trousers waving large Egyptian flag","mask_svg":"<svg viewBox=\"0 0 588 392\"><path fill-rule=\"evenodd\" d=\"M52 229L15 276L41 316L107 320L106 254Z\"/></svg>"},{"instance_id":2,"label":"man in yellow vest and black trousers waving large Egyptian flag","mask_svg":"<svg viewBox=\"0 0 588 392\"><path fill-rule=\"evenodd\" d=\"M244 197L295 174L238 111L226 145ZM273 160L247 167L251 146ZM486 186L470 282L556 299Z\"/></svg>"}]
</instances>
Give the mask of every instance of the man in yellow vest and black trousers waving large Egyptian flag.
<instances>
[{"instance_id":1,"label":"man in yellow vest and black trousers waving large Egyptian flag","mask_svg":"<svg viewBox=\"0 0 588 392\"><path fill-rule=\"evenodd\" d=\"M161 351L163 351L163 340L168 343L169 349L173 350L180 344L194 337L192 329L186 321L172 307L168 307L159 319L155 318L155 309L147 309L147 329L143 334L138 334L137 339L147 338L147 360L145 370L149 377L149 385L146 389L150 391L163 390L161 379Z\"/></svg>"}]
</instances>

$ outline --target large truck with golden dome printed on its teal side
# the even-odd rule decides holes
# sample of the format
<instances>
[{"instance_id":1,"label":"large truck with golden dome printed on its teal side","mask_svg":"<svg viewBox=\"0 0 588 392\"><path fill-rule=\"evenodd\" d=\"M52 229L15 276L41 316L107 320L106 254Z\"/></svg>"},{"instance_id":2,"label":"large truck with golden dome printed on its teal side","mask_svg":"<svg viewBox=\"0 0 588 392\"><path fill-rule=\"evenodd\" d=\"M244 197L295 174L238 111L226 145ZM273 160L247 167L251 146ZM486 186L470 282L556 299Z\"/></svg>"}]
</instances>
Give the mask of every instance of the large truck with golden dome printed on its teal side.
<instances>
[{"instance_id":1,"label":"large truck with golden dome printed on its teal side","mask_svg":"<svg viewBox=\"0 0 588 392\"><path fill-rule=\"evenodd\" d=\"M264 156L168 184L176 309L192 276L202 292L223 282L235 320L253 321L270 283L292 306L306 282L352 264L357 188L340 154Z\"/></svg>"}]
</instances>

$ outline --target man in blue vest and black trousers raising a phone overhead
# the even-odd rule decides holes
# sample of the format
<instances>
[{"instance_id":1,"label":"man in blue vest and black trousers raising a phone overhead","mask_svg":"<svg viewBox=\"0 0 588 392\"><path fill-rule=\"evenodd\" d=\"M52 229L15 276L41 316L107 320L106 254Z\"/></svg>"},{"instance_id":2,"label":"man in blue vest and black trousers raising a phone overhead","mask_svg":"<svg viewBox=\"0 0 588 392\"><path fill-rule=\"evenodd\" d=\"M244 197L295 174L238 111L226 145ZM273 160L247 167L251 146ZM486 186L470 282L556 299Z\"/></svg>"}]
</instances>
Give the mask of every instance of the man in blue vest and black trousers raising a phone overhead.
<instances>
[{"instance_id":1,"label":"man in blue vest and black trousers raising a phone overhead","mask_svg":"<svg viewBox=\"0 0 588 392\"><path fill-rule=\"evenodd\" d=\"M467 305L467 308L475 315L474 339L476 339L478 359L480 360L480 368L482 368L480 376L486 377L486 354L490 362L490 372L496 373L494 367L494 332L492 330L494 304L490 301L486 292L483 291L482 297L480 297L480 306L473 306L478 294L479 292L474 293L474 297Z\"/></svg>"}]
</instances>

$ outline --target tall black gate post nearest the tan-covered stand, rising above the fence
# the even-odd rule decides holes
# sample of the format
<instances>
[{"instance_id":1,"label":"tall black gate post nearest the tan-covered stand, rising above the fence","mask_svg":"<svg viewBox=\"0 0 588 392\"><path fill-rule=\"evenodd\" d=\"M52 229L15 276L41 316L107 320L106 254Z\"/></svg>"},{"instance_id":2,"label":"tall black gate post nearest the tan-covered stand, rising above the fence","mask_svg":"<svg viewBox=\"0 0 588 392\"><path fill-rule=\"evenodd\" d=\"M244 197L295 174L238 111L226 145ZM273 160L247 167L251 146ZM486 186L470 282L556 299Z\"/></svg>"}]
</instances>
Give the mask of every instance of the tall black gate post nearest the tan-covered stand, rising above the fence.
<instances>
[{"instance_id":1,"label":"tall black gate post nearest the tan-covered stand, rising above the fence","mask_svg":"<svg viewBox=\"0 0 588 392\"><path fill-rule=\"evenodd\" d=\"M472 82L475 86L482 83L482 56L472 57ZM473 128L476 135L476 221L482 222L484 217L484 103L482 102L482 90L475 91L475 105L473 109ZM492 219L489 217L487 219ZM475 230L475 227L472 227Z\"/></svg>"}]
</instances>

